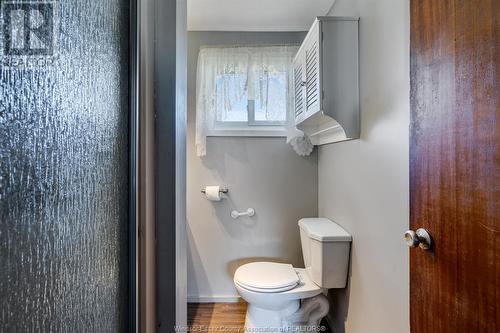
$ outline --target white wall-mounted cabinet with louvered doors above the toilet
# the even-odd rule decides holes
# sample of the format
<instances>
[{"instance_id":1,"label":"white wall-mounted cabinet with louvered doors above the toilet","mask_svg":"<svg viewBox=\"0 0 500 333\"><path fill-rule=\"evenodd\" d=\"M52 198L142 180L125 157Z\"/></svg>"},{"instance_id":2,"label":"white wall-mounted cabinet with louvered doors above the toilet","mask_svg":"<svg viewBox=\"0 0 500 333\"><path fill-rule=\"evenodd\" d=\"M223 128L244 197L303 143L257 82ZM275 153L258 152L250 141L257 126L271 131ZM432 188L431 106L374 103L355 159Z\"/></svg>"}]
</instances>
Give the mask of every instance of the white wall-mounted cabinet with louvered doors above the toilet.
<instances>
[{"instance_id":1,"label":"white wall-mounted cabinet with louvered doors above the toilet","mask_svg":"<svg viewBox=\"0 0 500 333\"><path fill-rule=\"evenodd\" d=\"M318 17L294 58L295 125L315 145L359 138L358 23Z\"/></svg>"}]
</instances>

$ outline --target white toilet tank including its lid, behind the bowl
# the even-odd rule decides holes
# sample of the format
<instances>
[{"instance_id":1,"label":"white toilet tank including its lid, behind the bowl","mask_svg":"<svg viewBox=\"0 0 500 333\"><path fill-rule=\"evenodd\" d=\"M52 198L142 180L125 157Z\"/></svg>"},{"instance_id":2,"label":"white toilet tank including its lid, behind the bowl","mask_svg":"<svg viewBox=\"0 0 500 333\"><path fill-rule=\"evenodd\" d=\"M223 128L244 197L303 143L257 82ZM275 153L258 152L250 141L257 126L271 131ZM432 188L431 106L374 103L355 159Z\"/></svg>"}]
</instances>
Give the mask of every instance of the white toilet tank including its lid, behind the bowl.
<instances>
[{"instance_id":1,"label":"white toilet tank including its lid, behind the bowl","mask_svg":"<svg viewBox=\"0 0 500 333\"><path fill-rule=\"evenodd\" d=\"M349 269L351 235L325 218L299 221L304 264L310 277L322 288L345 288Z\"/></svg>"}]
</instances>

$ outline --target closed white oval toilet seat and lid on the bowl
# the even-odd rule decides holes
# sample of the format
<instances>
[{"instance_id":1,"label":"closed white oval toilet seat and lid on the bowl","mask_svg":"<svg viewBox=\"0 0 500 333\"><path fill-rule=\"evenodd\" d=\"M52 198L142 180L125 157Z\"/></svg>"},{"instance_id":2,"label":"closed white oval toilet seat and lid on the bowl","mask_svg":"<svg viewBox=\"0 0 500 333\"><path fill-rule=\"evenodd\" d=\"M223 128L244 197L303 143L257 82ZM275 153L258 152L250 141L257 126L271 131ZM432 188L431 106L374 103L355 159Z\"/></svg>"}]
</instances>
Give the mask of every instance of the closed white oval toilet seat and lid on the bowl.
<instances>
[{"instance_id":1,"label":"closed white oval toilet seat and lid on the bowl","mask_svg":"<svg viewBox=\"0 0 500 333\"><path fill-rule=\"evenodd\" d=\"M239 286L261 293L278 293L293 289L300 282L290 264L253 262L240 266L234 281Z\"/></svg>"}]
</instances>

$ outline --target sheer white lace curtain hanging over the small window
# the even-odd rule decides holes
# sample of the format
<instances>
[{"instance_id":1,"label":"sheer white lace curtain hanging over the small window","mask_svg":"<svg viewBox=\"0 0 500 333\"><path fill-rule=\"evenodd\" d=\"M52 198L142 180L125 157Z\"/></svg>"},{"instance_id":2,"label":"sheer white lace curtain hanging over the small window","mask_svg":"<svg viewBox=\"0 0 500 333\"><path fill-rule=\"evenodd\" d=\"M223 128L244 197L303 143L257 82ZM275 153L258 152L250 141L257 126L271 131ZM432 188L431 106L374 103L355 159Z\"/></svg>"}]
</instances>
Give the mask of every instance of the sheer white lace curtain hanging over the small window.
<instances>
[{"instance_id":1,"label":"sheer white lace curtain hanging over the small window","mask_svg":"<svg viewBox=\"0 0 500 333\"><path fill-rule=\"evenodd\" d=\"M293 105L292 60L297 50L298 46L291 45L200 49L196 77L195 143L198 156L206 155L209 129L214 128L217 119L231 118L228 112L235 104L246 107L248 100L254 100L259 110L265 110L269 120L279 120L283 114L285 121L293 119L290 114ZM286 82L283 84L279 80ZM286 98L269 98L270 87L277 86L285 87L283 90L286 91L273 93L285 94ZM241 115L236 118L232 120L247 121Z\"/></svg>"}]
</instances>

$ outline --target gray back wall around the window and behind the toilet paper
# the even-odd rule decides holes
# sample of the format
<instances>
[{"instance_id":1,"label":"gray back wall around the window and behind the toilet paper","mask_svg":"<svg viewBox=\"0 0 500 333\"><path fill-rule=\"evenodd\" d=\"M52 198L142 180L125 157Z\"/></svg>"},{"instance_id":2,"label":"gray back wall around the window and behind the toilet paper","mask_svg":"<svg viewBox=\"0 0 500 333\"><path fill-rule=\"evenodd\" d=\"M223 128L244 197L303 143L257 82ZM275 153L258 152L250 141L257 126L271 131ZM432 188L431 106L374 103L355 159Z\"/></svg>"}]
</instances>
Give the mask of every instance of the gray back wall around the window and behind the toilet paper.
<instances>
[{"instance_id":1,"label":"gray back wall around the window and behind the toilet paper","mask_svg":"<svg viewBox=\"0 0 500 333\"><path fill-rule=\"evenodd\" d=\"M196 62L201 45L300 43L304 33L188 33L188 299L237 297L234 270L244 262L302 265L298 219L317 216L316 152L300 157L285 138L213 137L207 156L195 155ZM229 197L207 201L206 185L228 185ZM252 207L253 218L233 220L232 209Z\"/></svg>"}]
</instances>

